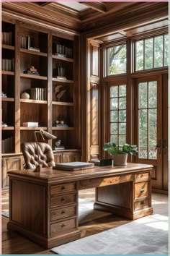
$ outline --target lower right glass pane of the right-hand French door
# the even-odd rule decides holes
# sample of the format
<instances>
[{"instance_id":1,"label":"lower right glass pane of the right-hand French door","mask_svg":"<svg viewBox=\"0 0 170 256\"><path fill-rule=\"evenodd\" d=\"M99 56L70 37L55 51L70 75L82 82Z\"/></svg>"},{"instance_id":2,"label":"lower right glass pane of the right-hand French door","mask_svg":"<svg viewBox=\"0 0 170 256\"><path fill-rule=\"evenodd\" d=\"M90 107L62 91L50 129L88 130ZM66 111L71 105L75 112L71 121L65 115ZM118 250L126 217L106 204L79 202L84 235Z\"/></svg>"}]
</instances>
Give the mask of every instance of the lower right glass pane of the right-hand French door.
<instances>
[{"instance_id":1,"label":"lower right glass pane of the right-hand French door","mask_svg":"<svg viewBox=\"0 0 170 256\"><path fill-rule=\"evenodd\" d=\"M148 110L148 158L156 159L157 150L156 150L156 140L157 140L157 113L156 109Z\"/></svg>"}]
</instances>

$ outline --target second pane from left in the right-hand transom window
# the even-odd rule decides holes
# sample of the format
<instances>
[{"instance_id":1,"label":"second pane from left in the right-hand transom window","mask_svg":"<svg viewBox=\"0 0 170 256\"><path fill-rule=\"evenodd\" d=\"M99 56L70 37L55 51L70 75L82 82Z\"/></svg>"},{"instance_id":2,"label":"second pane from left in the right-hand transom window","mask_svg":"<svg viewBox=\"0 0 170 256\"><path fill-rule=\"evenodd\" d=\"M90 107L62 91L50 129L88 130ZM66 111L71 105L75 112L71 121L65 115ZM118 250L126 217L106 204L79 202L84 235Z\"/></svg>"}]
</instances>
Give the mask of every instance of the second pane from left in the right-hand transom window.
<instances>
[{"instance_id":1,"label":"second pane from left in the right-hand transom window","mask_svg":"<svg viewBox=\"0 0 170 256\"><path fill-rule=\"evenodd\" d=\"M145 69L153 68L153 38L145 40Z\"/></svg>"}]
</instances>

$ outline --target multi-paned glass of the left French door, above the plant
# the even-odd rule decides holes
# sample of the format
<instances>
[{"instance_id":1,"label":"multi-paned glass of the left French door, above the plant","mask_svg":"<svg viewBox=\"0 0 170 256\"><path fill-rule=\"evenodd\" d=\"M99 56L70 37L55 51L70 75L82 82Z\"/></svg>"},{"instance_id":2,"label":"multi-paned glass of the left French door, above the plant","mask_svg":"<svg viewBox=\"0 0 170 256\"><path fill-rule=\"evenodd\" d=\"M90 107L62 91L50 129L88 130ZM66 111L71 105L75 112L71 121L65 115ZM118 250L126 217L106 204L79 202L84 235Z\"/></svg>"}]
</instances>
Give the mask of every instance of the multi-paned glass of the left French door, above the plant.
<instances>
[{"instance_id":1,"label":"multi-paned glass of the left French door, above the plant","mask_svg":"<svg viewBox=\"0 0 170 256\"><path fill-rule=\"evenodd\" d=\"M126 142L126 85L110 87L110 141L119 147Z\"/></svg>"}]
</instances>

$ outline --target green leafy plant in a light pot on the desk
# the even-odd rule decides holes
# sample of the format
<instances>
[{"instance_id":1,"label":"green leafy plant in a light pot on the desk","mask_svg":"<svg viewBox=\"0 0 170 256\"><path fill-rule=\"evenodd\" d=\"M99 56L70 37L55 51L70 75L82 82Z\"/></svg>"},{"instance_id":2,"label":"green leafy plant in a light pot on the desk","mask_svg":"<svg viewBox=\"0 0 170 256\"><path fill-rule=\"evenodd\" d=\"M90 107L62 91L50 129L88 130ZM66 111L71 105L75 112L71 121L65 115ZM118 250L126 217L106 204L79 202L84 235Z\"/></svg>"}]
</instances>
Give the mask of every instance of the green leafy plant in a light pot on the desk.
<instances>
[{"instance_id":1,"label":"green leafy plant in a light pot on the desk","mask_svg":"<svg viewBox=\"0 0 170 256\"><path fill-rule=\"evenodd\" d=\"M119 148L115 142L106 142L104 143L103 149L104 151L107 151L109 155L112 155L115 166L127 165L128 154L135 155L136 153L138 153L137 145L130 145L128 143L125 143L122 148Z\"/></svg>"}]
</instances>

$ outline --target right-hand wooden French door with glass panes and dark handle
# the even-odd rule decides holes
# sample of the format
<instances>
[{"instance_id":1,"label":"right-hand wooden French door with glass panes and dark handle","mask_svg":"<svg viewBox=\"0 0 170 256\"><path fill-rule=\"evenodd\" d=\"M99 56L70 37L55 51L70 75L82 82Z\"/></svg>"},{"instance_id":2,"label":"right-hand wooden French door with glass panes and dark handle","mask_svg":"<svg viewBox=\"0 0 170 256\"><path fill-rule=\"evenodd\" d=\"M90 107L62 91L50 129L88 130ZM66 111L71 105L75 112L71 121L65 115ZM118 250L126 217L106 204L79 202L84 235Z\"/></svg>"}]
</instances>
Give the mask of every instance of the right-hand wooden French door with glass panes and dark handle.
<instances>
[{"instance_id":1,"label":"right-hand wooden French door with glass panes and dark handle","mask_svg":"<svg viewBox=\"0 0 170 256\"><path fill-rule=\"evenodd\" d=\"M167 104L165 84L160 76L135 81L134 142L138 145L137 163L153 165L152 187L164 189L167 176ZM163 87L164 85L164 87ZM166 177L167 179L167 177ZM166 180L167 183L167 180Z\"/></svg>"}]
</instances>

